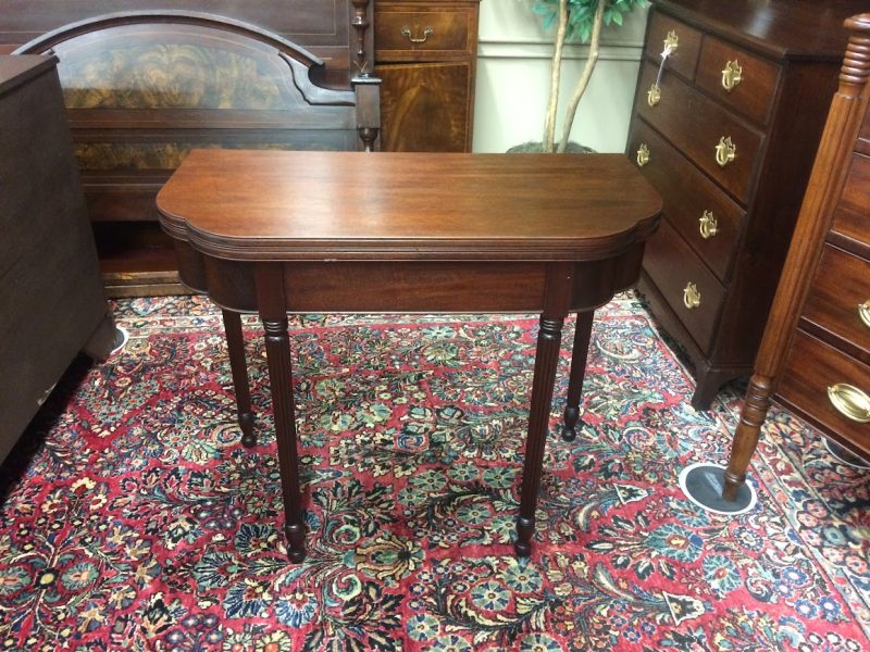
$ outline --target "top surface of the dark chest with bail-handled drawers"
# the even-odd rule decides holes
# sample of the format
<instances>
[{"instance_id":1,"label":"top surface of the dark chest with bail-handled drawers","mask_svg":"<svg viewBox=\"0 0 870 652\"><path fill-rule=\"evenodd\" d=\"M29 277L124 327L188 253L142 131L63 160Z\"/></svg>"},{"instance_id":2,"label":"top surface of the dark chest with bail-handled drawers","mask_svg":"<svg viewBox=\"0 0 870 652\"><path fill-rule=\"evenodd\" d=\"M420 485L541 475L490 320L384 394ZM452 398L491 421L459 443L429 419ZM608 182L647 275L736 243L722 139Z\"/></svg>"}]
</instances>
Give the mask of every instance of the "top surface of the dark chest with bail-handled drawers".
<instances>
[{"instance_id":1,"label":"top surface of the dark chest with bail-handled drawers","mask_svg":"<svg viewBox=\"0 0 870 652\"><path fill-rule=\"evenodd\" d=\"M867 0L654 0L660 10L768 57L841 61L843 22Z\"/></svg>"}]
</instances>

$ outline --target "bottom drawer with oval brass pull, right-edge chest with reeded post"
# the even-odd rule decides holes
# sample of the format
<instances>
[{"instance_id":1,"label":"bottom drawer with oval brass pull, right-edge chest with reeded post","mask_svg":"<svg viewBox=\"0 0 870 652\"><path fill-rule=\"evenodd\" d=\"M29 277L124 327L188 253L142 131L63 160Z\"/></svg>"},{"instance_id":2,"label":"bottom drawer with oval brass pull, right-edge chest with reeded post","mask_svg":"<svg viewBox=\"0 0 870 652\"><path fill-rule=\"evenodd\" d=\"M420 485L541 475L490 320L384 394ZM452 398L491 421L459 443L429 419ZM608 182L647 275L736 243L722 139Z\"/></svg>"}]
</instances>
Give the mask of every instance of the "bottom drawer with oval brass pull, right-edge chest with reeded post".
<instances>
[{"instance_id":1,"label":"bottom drawer with oval brass pull, right-edge chest with reeded post","mask_svg":"<svg viewBox=\"0 0 870 652\"><path fill-rule=\"evenodd\" d=\"M870 394L870 366L798 330L788 351L779 396L870 453L870 423L846 417L829 398L828 388L838 385L849 385ZM853 410L860 412L860 399L853 401Z\"/></svg>"}]
</instances>

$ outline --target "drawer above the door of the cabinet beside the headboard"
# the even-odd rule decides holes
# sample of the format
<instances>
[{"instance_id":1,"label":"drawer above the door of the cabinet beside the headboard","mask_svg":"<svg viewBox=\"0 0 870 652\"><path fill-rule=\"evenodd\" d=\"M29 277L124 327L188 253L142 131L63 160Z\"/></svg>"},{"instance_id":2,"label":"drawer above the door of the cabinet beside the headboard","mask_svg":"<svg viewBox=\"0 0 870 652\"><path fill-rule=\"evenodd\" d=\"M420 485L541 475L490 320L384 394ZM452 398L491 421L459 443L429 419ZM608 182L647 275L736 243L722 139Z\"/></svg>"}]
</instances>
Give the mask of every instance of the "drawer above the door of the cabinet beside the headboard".
<instances>
[{"instance_id":1,"label":"drawer above the door of the cabinet beside the headboard","mask_svg":"<svg viewBox=\"0 0 870 652\"><path fill-rule=\"evenodd\" d=\"M476 30L469 11L394 11L375 3L374 43L377 61L432 60L442 55L469 55ZM399 8L401 9L401 8Z\"/></svg>"}]
</instances>

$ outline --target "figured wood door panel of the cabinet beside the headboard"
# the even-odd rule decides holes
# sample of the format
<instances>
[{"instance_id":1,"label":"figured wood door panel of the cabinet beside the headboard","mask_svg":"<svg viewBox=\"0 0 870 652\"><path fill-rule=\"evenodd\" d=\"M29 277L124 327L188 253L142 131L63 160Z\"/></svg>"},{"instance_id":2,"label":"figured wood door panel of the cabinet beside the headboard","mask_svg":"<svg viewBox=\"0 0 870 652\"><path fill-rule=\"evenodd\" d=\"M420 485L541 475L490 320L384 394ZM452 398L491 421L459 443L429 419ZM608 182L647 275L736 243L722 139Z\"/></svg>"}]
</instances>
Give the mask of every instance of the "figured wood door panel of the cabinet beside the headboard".
<instances>
[{"instance_id":1,"label":"figured wood door panel of the cabinet beside the headboard","mask_svg":"<svg viewBox=\"0 0 870 652\"><path fill-rule=\"evenodd\" d=\"M462 152L471 147L470 63L382 65L381 146L394 152Z\"/></svg>"}]
</instances>

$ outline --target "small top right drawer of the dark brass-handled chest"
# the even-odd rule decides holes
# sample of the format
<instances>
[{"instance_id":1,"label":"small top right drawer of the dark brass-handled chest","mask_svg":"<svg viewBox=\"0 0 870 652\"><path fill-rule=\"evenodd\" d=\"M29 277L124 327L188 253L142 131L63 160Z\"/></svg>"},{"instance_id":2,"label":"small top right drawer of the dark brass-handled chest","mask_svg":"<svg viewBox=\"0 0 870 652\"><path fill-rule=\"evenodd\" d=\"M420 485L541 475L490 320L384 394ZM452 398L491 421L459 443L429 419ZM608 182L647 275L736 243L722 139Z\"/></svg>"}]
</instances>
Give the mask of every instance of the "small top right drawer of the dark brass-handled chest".
<instances>
[{"instance_id":1,"label":"small top right drawer of the dark brass-handled chest","mask_svg":"<svg viewBox=\"0 0 870 652\"><path fill-rule=\"evenodd\" d=\"M708 36L701 48L695 85L718 102L767 124L779 76L780 66Z\"/></svg>"}]
</instances>

